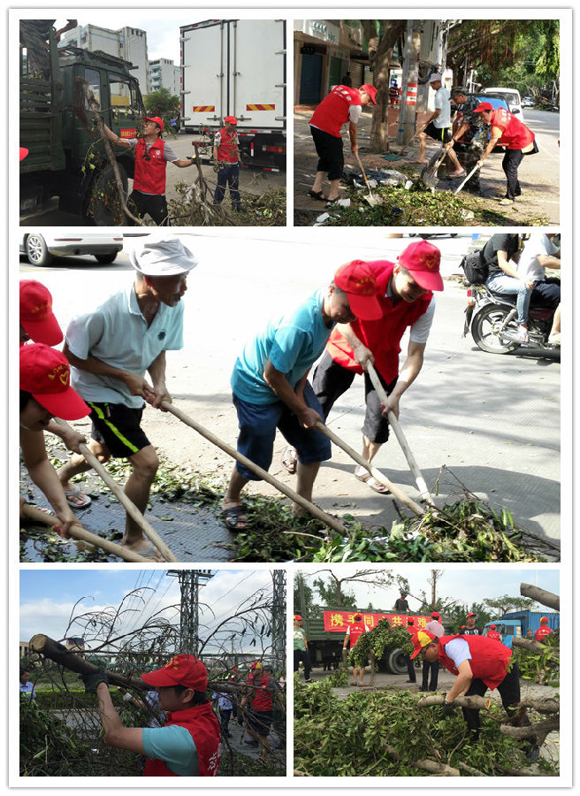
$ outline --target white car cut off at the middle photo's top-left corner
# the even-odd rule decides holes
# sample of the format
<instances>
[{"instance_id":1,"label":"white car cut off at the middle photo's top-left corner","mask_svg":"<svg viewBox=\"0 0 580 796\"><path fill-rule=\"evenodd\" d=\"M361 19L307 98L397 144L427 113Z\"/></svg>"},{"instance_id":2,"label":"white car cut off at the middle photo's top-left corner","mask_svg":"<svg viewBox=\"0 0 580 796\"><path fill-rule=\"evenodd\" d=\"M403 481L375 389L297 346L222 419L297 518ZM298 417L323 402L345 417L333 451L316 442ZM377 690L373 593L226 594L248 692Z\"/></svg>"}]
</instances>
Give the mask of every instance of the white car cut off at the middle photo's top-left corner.
<instances>
[{"instance_id":1,"label":"white car cut off at the middle photo's top-left corner","mask_svg":"<svg viewBox=\"0 0 580 796\"><path fill-rule=\"evenodd\" d=\"M114 262L123 249L123 235L82 233L68 227L50 233L28 231L21 233L20 254L32 265L48 265L54 256L93 255L97 263Z\"/></svg>"}]
</instances>

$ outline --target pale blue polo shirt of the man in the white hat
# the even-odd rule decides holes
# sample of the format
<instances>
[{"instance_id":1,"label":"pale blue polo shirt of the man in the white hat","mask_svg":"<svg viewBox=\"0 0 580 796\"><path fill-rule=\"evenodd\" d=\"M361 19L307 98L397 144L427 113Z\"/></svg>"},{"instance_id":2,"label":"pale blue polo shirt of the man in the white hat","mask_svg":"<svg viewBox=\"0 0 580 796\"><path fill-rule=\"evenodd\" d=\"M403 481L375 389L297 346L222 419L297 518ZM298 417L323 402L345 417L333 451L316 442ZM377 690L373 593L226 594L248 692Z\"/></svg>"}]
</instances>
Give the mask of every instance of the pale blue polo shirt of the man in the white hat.
<instances>
[{"instance_id":1,"label":"pale blue polo shirt of the man in the white hat","mask_svg":"<svg viewBox=\"0 0 580 796\"><path fill-rule=\"evenodd\" d=\"M143 318L134 283L111 295L95 312L72 318L66 342L74 356L95 356L124 371L147 371L162 351L183 348L183 303L175 307L160 304L150 326ZM132 395L125 382L111 376L71 367L71 385L85 401L122 403L141 409L143 399Z\"/></svg>"}]
</instances>

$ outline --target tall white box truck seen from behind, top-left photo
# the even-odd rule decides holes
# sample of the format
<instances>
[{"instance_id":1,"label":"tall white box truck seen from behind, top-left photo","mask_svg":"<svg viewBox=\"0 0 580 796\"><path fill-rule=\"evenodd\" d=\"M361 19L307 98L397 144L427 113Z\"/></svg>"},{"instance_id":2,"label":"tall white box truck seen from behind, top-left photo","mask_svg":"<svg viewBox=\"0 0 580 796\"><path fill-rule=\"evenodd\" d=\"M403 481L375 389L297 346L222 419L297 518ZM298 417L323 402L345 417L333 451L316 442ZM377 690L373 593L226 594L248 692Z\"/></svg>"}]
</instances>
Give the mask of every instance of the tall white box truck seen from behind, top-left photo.
<instances>
[{"instance_id":1,"label":"tall white box truck seen from behind, top-left photo","mask_svg":"<svg viewBox=\"0 0 580 796\"><path fill-rule=\"evenodd\" d=\"M209 19L180 28L181 131L238 119L242 168L286 169L286 20Z\"/></svg>"}]
</instances>

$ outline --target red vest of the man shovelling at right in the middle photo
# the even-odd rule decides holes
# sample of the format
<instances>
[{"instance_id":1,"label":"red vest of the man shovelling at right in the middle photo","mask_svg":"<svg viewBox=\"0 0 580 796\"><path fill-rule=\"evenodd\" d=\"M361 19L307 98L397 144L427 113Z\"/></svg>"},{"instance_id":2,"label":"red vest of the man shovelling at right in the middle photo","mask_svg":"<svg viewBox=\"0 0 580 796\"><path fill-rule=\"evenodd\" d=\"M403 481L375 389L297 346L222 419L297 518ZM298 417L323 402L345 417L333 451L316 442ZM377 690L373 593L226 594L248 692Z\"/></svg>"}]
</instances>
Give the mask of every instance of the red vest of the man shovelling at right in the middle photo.
<instances>
[{"instance_id":1,"label":"red vest of the man shovelling at right in the middle photo","mask_svg":"<svg viewBox=\"0 0 580 796\"><path fill-rule=\"evenodd\" d=\"M417 318L427 311L432 293L420 296L414 302L400 302L393 305L391 298L386 298L386 288L393 273L394 263L386 260L375 264L375 279L379 288L378 302L383 310L383 317L376 321L355 320L351 326L356 336L370 348L375 357L375 367L386 383L393 381L399 373L399 354L401 353L401 337L408 326L412 326ZM350 344L337 328L332 330L326 343L326 350L334 362L347 368L348 371L363 373L363 368L355 361Z\"/></svg>"}]
</instances>

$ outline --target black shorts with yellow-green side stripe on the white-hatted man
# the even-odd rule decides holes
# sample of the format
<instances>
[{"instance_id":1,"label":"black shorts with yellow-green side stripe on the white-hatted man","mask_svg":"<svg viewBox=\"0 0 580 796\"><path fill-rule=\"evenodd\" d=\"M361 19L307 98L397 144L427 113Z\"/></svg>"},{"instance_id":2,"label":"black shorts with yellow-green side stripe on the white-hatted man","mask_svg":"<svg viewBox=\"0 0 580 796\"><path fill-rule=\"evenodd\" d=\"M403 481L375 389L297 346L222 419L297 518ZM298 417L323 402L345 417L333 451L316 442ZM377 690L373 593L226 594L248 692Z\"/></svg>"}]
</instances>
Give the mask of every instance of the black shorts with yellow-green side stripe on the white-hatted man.
<instances>
[{"instance_id":1,"label":"black shorts with yellow-green side stripe on the white-hatted man","mask_svg":"<svg viewBox=\"0 0 580 796\"><path fill-rule=\"evenodd\" d=\"M131 409L123 403L97 403L87 401L93 421L93 440L106 445L111 455L118 458L132 456L151 443L141 429L141 409Z\"/></svg>"}]
</instances>

